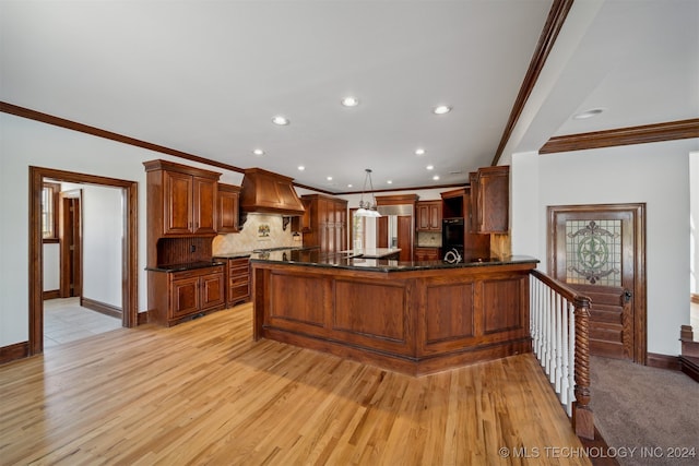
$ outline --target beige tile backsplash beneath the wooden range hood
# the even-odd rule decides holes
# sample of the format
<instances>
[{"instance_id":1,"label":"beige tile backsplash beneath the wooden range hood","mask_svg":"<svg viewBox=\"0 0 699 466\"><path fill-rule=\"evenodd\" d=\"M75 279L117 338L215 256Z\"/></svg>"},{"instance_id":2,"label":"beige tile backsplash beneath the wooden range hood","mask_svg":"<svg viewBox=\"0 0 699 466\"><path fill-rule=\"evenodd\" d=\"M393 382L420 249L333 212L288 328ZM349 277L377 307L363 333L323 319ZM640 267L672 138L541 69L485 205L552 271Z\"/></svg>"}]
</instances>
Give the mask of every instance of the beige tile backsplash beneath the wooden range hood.
<instances>
[{"instance_id":1,"label":"beige tile backsplash beneath the wooden range hood","mask_svg":"<svg viewBox=\"0 0 699 466\"><path fill-rule=\"evenodd\" d=\"M248 214L242 230L237 234L218 235L214 238L212 248L214 255L230 252L246 252L262 248L282 248L301 246L292 235L292 225L282 229L281 215Z\"/></svg>"}]
</instances>

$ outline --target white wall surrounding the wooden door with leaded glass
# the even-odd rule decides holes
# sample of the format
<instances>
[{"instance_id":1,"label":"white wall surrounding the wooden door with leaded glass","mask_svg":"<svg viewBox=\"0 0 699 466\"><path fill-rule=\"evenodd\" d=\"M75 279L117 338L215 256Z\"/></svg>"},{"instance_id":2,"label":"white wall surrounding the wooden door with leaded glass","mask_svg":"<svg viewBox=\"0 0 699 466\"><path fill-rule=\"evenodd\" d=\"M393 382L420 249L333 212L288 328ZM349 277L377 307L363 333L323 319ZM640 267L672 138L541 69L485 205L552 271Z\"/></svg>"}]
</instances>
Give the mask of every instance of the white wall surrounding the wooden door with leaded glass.
<instances>
[{"instance_id":1,"label":"white wall surrounding the wooden door with leaded glass","mask_svg":"<svg viewBox=\"0 0 699 466\"><path fill-rule=\"evenodd\" d=\"M678 355L689 321L689 167L699 140L512 156L512 251L546 271L549 205L647 204L648 351Z\"/></svg>"}]
</instances>

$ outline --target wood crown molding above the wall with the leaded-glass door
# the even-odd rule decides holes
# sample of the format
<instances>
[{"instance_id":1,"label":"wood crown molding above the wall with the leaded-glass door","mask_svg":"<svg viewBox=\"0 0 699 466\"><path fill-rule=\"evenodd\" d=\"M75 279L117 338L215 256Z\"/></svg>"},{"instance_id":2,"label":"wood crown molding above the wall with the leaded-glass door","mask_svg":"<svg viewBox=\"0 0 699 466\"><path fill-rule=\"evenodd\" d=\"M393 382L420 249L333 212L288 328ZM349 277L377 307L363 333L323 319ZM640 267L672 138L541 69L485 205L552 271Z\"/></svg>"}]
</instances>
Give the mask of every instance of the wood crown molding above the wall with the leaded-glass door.
<instances>
[{"instance_id":1,"label":"wood crown molding above the wall with the leaded-glass door","mask_svg":"<svg viewBox=\"0 0 699 466\"><path fill-rule=\"evenodd\" d=\"M699 138L699 118L549 139L540 154Z\"/></svg>"}]
</instances>

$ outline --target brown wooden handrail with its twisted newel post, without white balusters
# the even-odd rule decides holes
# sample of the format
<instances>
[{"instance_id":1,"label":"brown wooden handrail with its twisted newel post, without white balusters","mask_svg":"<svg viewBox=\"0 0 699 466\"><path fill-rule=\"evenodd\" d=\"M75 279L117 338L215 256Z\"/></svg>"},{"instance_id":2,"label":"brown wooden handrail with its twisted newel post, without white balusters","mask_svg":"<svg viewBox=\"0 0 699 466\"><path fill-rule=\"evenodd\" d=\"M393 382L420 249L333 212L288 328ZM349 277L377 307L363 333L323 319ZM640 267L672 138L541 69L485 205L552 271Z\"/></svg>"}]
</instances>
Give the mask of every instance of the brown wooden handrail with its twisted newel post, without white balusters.
<instances>
[{"instance_id":1,"label":"brown wooden handrail with its twisted newel post, without white balusters","mask_svg":"<svg viewBox=\"0 0 699 466\"><path fill-rule=\"evenodd\" d=\"M574 395L572 426L576 434L594 439L594 417L590 408L590 307L592 300L538 270L531 274L574 307Z\"/></svg>"}]
</instances>

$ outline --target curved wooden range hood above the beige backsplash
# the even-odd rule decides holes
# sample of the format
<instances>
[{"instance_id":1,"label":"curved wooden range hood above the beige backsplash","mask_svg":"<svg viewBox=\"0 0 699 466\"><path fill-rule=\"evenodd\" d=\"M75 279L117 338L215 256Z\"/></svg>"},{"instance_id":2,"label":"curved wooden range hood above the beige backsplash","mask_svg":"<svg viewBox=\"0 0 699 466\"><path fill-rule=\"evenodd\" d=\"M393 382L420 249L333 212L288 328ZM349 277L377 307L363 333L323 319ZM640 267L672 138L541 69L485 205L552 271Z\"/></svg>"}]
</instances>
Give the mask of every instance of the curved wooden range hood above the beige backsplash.
<instances>
[{"instance_id":1,"label":"curved wooden range hood above the beige backsplash","mask_svg":"<svg viewBox=\"0 0 699 466\"><path fill-rule=\"evenodd\" d=\"M304 204L294 190L293 178L261 168L245 170L240 211L284 216L304 215Z\"/></svg>"}]
</instances>

